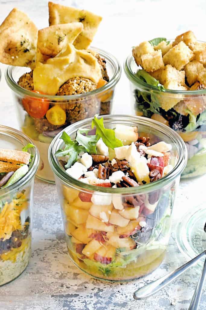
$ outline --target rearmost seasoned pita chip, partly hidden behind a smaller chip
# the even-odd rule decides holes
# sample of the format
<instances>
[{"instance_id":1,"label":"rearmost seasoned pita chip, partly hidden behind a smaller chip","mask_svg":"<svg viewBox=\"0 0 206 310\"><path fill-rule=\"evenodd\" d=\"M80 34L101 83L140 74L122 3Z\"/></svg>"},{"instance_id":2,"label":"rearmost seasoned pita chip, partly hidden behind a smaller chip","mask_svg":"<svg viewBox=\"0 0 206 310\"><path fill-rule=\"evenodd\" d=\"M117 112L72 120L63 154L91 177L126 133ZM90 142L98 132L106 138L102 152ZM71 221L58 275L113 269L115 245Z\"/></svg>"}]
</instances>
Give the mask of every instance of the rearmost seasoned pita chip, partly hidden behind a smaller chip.
<instances>
[{"instance_id":1,"label":"rearmost seasoned pita chip, partly hidden behind a smaller chip","mask_svg":"<svg viewBox=\"0 0 206 310\"><path fill-rule=\"evenodd\" d=\"M102 20L101 16L95 15L86 10L79 10L74 7L65 7L63 5L48 3L49 25L67 24L81 22L84 29L74 41L74 46L78 50L87 49L92 42L97 28Z\"/></svg>"}]
</instances>

